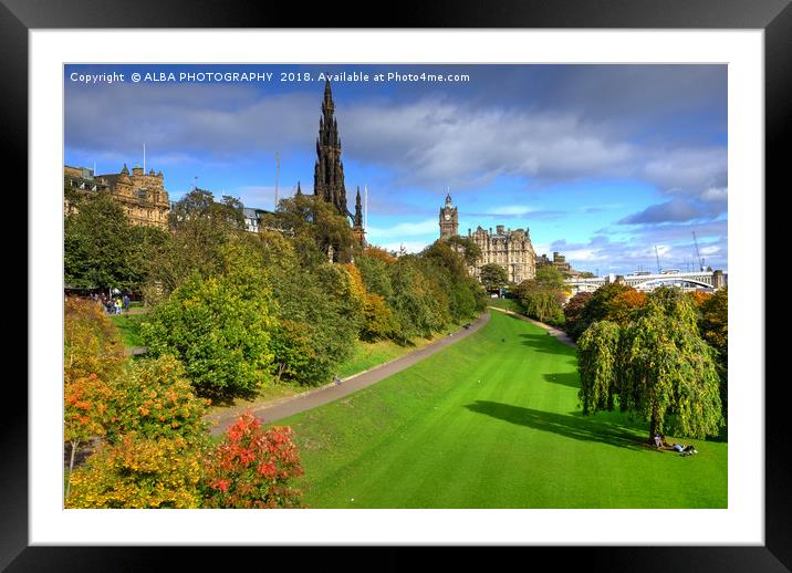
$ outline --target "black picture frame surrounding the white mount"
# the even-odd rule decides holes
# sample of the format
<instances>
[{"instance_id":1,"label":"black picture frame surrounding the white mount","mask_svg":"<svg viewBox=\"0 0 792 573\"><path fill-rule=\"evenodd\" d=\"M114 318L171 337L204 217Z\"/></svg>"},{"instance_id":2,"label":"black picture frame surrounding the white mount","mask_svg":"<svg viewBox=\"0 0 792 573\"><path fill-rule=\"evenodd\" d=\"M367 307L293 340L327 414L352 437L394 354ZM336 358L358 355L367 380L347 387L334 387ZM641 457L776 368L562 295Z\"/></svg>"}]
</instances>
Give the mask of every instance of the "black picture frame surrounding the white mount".
<instances>
[{"instance_id":1,"label":"black picture frame surrounding the white mount","mask_svg":"<svg viewBox=\"0 0 792 573\"><path fill-rule=\"evenodd\" d=\"M28 32L53 28L628 28L628 29L761 29L765 55L765 189L781 194L786 184L785 149L792 138L792 7L790 0L509 0L497 4L465 1L393 4L394 10L374 14L359 8L323 4L312 10L301 3L209 0L0 0L0 132L6 147L3 163L14 166L14 185L27 188L28 170ZM330 9L326 9L330 8ZM359 21L361 17L364 17ZM784 145L788 144L788 145ZM786 184L789 185L789 184ZM758 198L761 196L758 192ZM764 192L767 202L773 194ZM772 210L767 212L773 212ZM32 217L34 213L28 213ZM28 219L29 220L29 219ZM769 227L769 226L768 226ZM773 257L773 243L767 241L765 261ZM30 261L28 261L28 264ZM27 275L27 274L25 274ZM27 281L27 279L25 279ZM767 284L767 281L765 281ZM27 290L27 289L25 289ZM770 300L770 291L765 291ZM31 301L28 299L28 303ZM764 308L757 309L764 316ZM763 333L765 348L780 342ZM32 341L34 343L34 341ZM28 348L29 350L29 348ZM769 353L765 350L765 357ZM11 354L9 353L9 356ZM764 362L764 365L767 362ZM12 379L7 378L7 385ZM28 543L28 415L27 392L19 383L17 399L7 396L0 451L0 569L8 571L133 571L164 569L163 553L178 551L190 563L206 564L206 548L76 548L29 546ZM783 426L788 418L783 399L785 377L777 384L750 381L764 386L765 393L765 544L763 546L680 546L680 548L531 548L559 560L569 560L587 569L608 571L753 571L775 572L792 569L792 475L790 448ZM13 405L13 407L11 406ZM289 548L286 548L289 549ZM260 559L257 551L233 548L236 559ZM268 559L274 552L267 550ZM304 549L300 551L305 555ZM282 551L279 553L283 553ZM460 551L459 553L466 553ZM326 555L336 554L331 551ZM359 555L359 554L358 554ZM418 558L407 548L392 548L379 566L405 569ZM534 556L534 555L532 555ZM539 561L536 563L541 563ZM281 559L281 558L279 558ZM332 562L334 558L330 556ZM345 569L357 569L350 563ZM365 558L359 558L365 559ZM469 555L463 556L472 564ZM487 558L484 558L487 559ZM491 558L490 558L491 559ZM504 559L504 558L500 558ZM508 558L507 558L508 559ZM524 559L524 558L521 558ZM271 562L270 566L271 566ZM362 567L368 569L368 567Z\"/></svg>"}]
</instances>

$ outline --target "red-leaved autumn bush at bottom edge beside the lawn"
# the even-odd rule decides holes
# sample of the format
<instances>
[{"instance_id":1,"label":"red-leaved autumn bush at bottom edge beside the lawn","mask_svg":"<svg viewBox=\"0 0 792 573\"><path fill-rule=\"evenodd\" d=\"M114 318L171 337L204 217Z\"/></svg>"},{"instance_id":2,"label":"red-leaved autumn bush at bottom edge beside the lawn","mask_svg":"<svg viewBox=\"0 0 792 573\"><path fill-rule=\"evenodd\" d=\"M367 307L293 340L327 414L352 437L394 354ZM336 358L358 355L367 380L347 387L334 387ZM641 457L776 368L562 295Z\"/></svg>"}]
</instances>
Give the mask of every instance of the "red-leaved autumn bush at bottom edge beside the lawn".
<instances>
[{"instance_id":1,"label":"red-leaved autumn bush at bottom edge beside the lawn","mask_svg":"<svg viewBox=\"0 0 792 573\"><path fill-rule=\"evenodd\" d=\"M267 430L247 411L207 461L208 508L300 508L292 480L303 473L291 428Z\"/></svg>"}]
</instances>

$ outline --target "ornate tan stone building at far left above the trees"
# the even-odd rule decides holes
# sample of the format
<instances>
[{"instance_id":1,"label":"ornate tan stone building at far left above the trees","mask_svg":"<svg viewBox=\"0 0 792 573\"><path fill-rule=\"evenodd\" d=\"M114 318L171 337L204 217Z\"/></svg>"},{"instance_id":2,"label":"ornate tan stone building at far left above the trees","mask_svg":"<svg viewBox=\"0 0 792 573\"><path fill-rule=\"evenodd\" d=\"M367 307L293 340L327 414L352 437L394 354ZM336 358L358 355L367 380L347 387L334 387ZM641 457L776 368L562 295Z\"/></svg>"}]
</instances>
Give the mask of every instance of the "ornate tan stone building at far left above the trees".
<instances>
[{"instance_id":1,"label":"ornate tan stone building at far left above the trees","mask_svg":"<svg viewBox=\"0 0 792 573\"><path fill-rule=\"evenodd\" d=\"M129 169L124 164L121 173L94 175L84 167L63 167L63 190L65 215L76 210L75 201L80 196L98 191L108 191L116 199L132 225L168 228L170 202L165 190L163 171L154 169L143 173L143 167Z\"/></svg>"}]
</instances>

